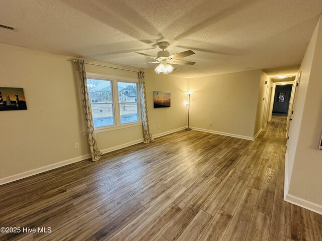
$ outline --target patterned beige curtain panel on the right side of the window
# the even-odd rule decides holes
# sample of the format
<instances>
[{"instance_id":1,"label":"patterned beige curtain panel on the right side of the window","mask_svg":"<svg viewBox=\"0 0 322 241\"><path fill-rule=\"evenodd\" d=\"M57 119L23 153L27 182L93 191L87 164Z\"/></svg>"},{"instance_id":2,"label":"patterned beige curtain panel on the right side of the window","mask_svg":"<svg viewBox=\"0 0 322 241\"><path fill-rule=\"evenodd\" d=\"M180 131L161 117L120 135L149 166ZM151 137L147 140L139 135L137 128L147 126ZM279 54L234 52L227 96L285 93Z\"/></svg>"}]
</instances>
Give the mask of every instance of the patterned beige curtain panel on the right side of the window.
<instances>
[{"instance_id":1,"label":"patterned beige curtain panel on the right side of the window","mask_svg":"<svg viewBox=\"0 0 322 241\"><path fill-rule=\"evenodd\" d=\"M144 82L144 72L139 72L139 88L140 88L140 98L141 98L141 113L142 113L142 126L143 126L143 139L144 143L154 142L154 139L150 133L147 107L146 107L146 94L145 94L145 82Z\"/></svg>"}]
</instances>

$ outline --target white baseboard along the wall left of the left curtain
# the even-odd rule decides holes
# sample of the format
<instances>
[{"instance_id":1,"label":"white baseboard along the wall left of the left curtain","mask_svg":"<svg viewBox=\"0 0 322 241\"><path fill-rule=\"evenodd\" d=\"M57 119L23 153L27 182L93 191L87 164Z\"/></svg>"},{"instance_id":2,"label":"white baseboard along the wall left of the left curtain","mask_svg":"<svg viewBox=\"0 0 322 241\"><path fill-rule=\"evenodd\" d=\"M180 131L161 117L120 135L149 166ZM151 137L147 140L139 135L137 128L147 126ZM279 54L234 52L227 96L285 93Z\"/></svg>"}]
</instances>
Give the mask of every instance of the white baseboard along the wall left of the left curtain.
<instances>
[{"instance_id":1,"label":"white baseboard along the wall left of the left curtain","mask_svg":"<svg viewBox=\"0 0 322 241\"><path fill-rule=\"evenodd\" d=\"M23 179L23 178L26 178L26 177L30 177L30 176L33 176L33 175L36 175L36 174L39 174L39 173L42 173L42 172L47 172L47 171L50 171L52 169L56 169L58 167L66 166L68 164L83 161L83 160L86 160L88 158L91 158L91 154L71 158L71 159L68 159L68 160L65 160L65 161L62 161L62 162L50 164L48 166L36 168L36 169L26 171L26 172L23 172L23 173L19 173L19 174L15 174L15 175L12 175L12 176L9 176L9 177L1 178L0 179L0 185L6 184L6 183L9 183L9 182L13 182L13 181L16 181L16 180L19 180L19 179Z\"/></svg>"}]
</instances>

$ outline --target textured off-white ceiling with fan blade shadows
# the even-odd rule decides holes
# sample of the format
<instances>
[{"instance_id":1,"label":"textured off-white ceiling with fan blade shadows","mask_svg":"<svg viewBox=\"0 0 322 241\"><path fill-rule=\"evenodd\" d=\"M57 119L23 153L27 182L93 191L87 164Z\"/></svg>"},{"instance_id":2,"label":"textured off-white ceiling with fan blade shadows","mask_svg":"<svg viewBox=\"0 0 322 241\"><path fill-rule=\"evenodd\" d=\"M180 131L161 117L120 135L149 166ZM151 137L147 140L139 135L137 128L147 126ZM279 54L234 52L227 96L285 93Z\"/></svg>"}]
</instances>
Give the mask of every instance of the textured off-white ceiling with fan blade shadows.
<instances>
[{"instance_id":1,"label":"textured off-white ceiling with fan blade shadows","mask_svg":"<svg viewBox=\"0 0 322 241\"><path fill-rule=\"evenodd\" d=\"M321 0L0 0L0 42L136 68L168 41L193 50L172 75L197 77L301 62ZM289 71L287 67L281 71ZM269 72L269 71L268 71Z\"/></svg>"}]
</instances>

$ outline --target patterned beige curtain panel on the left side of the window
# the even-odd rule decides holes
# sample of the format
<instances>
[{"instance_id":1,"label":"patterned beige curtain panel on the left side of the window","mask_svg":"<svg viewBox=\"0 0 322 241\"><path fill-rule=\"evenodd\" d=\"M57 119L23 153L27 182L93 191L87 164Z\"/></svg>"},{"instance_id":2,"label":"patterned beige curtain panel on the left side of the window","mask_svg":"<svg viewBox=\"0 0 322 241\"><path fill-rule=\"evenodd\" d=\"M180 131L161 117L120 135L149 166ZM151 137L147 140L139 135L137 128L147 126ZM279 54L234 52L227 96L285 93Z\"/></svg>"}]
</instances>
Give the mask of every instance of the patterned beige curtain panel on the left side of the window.
<instances>
[{"instance_id":1,"label":"patterned beige curtain panel on the left side of the window","mask_svg":"<svg viewBox=\"0 0 322 241\"><path fill-rule=\"evenodd\" d=\"M86 126L87 126L87 133L89 137L90 150L91 150L93 162L97 162L102 158L103 154L97 148L96 136L94 131L94 123L93 123L93 112L92 112L92 106L90 101L89 89L87 88L84 59L79 59L78 64L79 64L79 72L81 72L82 97L83 97L83 104L86 111L85 112Z\"/></svg>"}]
</instances>

